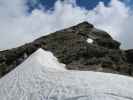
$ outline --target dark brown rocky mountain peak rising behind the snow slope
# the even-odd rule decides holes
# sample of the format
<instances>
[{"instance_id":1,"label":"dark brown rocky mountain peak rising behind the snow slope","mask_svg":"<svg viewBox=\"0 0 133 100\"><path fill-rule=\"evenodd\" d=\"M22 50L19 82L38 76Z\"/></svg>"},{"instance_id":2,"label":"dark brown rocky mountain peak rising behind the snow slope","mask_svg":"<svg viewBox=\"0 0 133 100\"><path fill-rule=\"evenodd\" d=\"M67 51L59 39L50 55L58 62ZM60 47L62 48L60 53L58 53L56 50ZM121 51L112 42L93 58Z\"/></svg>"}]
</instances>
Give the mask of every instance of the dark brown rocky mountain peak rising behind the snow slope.
<instances>
[{"instance_id":1,"label":"dark brown rocky mountain peak rising behind the snow slope","mask_svg":"<svg viewBox=\"0 0 133 100\"><path fill-rule=\"evenodd\" d=\"M21 64L38 48L51 51L69 70L133 76L133 50L121 50L120 42L107 32L83 22L23 46L0 51L0 77Z\"/></svg>"}]
</instances>

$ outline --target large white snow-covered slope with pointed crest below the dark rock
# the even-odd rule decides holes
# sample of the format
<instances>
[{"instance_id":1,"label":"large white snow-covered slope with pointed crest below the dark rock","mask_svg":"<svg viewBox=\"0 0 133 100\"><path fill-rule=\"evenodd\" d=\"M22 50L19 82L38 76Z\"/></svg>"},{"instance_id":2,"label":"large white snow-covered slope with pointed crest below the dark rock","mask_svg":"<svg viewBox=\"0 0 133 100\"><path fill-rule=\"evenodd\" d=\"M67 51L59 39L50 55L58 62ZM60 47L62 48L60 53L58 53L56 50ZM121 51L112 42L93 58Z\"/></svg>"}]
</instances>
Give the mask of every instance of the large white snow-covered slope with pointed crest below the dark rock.
<instances>
[{"instance_id":1,"label":"large white snow-covered slope with pointed crest below the dark rock","mask_svg":"<svg viewBox=\"0 0 133 100\"><path fill-rule=\"evenodd\" d=\"M130 77L64 66L39 49L0 79L0 100L133 100Z\"/></svg>"}]
</instances>

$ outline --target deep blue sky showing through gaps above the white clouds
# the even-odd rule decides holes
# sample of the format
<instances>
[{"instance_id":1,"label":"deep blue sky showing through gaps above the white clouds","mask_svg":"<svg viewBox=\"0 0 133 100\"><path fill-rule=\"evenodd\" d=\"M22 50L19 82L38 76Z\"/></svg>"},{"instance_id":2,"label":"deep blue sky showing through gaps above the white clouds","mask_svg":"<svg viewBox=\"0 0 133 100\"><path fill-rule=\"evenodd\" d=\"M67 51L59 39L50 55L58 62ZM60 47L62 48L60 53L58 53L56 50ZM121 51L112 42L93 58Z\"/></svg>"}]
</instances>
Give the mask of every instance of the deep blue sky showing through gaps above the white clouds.
<instances>
[{"instance_id":1,"label":"deep blue sky showing through gaps above the white clouds","mask_svg":"<svg viewBox=\"0 0 133 100\"><path fill-rule=\"evenodd\" d=\"M41 7L44 7L46 10L52 9L56 1L57 0L28 0L28 5L30 7L29 10L31 11L34 8L39 8L40 5ZM105 6L107 6L110 1L111 0L76 0L76 3L78 6L90 10L95 8L99 2L103 2ZM120 0L120 1L123 1L128 6L133 5L133 0Z\"/></svg>"}]
</instances>

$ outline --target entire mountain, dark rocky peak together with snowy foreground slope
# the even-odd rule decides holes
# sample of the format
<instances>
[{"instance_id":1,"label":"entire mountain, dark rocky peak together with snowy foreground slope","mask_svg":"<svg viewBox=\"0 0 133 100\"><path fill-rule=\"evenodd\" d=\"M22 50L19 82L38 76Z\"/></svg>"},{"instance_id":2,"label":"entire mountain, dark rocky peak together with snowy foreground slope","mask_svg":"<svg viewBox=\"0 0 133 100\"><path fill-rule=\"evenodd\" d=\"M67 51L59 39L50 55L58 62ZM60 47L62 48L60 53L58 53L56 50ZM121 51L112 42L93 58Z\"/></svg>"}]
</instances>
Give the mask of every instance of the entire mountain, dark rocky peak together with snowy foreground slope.
<instances>
[{"instance_id":1,"label":"entire mountain, dark rocky peak together with snowy foreground slope","mask_svg":"<svg viewBox=\"0 0 133 100\"><path fill-rule=\"evenodd\" d=\"M120 45L83 22L0 51L0 100L133 100L133 50Z\"/></svg>"}]
</instances>

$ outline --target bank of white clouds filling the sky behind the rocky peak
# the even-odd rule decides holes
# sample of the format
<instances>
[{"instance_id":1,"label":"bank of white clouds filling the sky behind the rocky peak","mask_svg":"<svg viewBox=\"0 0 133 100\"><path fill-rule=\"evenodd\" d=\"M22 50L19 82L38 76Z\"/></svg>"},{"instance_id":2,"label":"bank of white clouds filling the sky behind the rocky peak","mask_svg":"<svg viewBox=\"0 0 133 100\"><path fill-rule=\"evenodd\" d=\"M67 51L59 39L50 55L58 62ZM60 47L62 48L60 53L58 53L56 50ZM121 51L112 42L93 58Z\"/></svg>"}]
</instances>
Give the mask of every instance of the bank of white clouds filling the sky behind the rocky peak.
<instances>
[{"instance_id":1,"label":"bank of white clouds filling the sky behind the rocky peak","mask_svg":"<svg viewBox=\"0 0 133 100\"><path fill-rule=\"evenodd\" d=\"M0 1L0 50L16 47L59 29L89 21L109 32L124 43L123 47L133 48L133 16L124 3L112 0L109 6L102 2L93 10L76 5L74 0L57 1L54 11L35 9L26 14L25 0Z\"/></svg>"}]
</instances>

